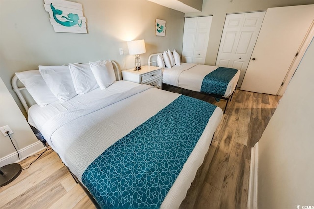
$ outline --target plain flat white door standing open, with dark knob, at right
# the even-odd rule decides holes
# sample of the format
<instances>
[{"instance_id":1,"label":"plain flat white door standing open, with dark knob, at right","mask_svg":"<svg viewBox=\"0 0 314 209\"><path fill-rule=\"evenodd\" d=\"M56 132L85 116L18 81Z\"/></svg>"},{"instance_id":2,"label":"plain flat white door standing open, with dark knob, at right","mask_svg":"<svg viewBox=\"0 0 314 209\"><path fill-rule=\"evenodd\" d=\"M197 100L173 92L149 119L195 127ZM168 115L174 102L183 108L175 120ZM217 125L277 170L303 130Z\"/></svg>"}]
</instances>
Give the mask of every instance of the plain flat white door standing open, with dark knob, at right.
<instances>
[{"instance_id":1,"label":"plain flat white door standing open, with dark knob, at right","mask_svg":"<svg viewBox=\"0 0 314 209\"><path fill-rule=\"evenodd\" d=\"M241 90L276 95L314 19L314 5L267 9Z\"/></svg>"}]
</instances>

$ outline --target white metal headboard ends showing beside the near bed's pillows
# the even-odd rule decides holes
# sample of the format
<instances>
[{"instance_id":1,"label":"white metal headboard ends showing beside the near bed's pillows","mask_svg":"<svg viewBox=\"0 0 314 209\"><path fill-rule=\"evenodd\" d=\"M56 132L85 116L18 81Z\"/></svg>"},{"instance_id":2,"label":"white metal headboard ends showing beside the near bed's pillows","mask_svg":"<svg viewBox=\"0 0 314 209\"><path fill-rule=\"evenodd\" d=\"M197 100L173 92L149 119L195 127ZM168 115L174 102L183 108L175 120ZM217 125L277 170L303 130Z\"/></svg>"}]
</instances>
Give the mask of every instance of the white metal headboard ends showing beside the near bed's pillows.
<instances>
[{"instance_id":1,"label":"white metal headboard ends showing beside the near bed's pillows","mask_svg":"<svg viewBox=\"0 0 314 209\"><path fill-rule=\"evenodd\" d=\"M119 70L119 67L118 67L117 63L115 61L112 61L112 60L110 60L110 61L113 64L113 69L114 69L115 74L116 74L116 80L117 81L121 80L120 79L120 70ZM12 85L13 91L19 97L19 100L21 101L24 109L26 110L26 113L28 113L28 109L29 109L30 106L28 106L27 102L29 104L31 104L33 102L32 101L28 101L28 99L26 100L25 96L21 92L22 90L26 90L26 87L24 87L23 85L22 85L22 87L18 87L18 82L19 82L18 77L16 75L14 75L12 80L11 80L11 85ZM19 82L19 83L21 83L21 82ZM29 95L29 93L28 93L28 95ZM29 97L31 97L31 96L29 95Z\"/></svg>"}]
</instances>

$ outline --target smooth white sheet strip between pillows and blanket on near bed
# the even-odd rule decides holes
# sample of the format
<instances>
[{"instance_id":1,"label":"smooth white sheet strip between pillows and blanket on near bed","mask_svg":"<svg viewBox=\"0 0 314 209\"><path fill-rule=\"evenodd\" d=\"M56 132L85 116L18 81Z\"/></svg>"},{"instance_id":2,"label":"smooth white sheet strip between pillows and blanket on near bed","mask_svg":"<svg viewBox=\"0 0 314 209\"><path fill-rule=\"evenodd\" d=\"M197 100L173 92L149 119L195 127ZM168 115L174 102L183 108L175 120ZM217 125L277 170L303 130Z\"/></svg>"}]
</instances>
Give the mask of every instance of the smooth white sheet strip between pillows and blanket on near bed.
<instances>
[{"instance_id":1,"label":"smooth white sheet strip between pillows and blanket on near bed","mask_svg":"<svg viewBox=\"0 0 314 209\"><path fill-rule=\"evenodd\" d=\"M140 84L130 81L116 81L104 90L97 88L90 91L89 93L77 95L64 103L56 101L46 105L45 107L40 107L37 104L32 105L28 110L28 123L41 131L42 126L47 122L47 120L60 112L67 111L88 103L96 102L99 99L127 91L138 85Z\"/></svg>"}]
</instances>

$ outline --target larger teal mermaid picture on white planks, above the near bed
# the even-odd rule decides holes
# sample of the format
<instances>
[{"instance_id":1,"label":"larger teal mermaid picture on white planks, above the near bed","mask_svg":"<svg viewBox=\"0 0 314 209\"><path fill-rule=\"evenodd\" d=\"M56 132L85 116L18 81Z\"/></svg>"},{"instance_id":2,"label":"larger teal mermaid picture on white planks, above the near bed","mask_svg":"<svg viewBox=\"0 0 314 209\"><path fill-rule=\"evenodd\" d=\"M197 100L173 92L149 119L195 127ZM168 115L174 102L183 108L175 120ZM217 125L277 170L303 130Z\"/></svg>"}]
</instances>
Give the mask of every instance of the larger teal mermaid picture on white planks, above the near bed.
<instances>
[{"instance_id":1,"label":"larger teal mermaid picture on white planks, above the near bed","mask_svg":"<svg viewBox=\"0 0 314 209\"><path fill-rule=\"evenodd\" d=\"M55 32L87 33L82 4L65 0L44 0L44 7L49 13Z\"/></svg>"}]
</instances>

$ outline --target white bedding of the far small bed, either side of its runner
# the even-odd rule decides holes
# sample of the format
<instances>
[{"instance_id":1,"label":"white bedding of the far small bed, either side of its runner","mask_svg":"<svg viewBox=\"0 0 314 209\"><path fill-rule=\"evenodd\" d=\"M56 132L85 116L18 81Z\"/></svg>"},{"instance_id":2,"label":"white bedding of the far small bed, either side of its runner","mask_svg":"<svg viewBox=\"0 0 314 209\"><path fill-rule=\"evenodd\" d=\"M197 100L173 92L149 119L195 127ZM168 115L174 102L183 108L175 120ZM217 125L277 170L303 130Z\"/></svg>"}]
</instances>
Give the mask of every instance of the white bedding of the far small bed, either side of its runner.
<instances>
[{"instance_id":1,"label":"white bedding of the far small bed, either side of its runner","mask_svg":"<svg viewBox=\"0 0 314 209\"><path fill-rule=\"evenodd\" d=\"M195 63L181 63L180 66L164 68L162 82L165 84L200 92L204 77L216 70L218 66L199 65ZM240 70L228 83L224 97L230 96L235 90L240 77Z\"/></svg>"}]
</instances>

